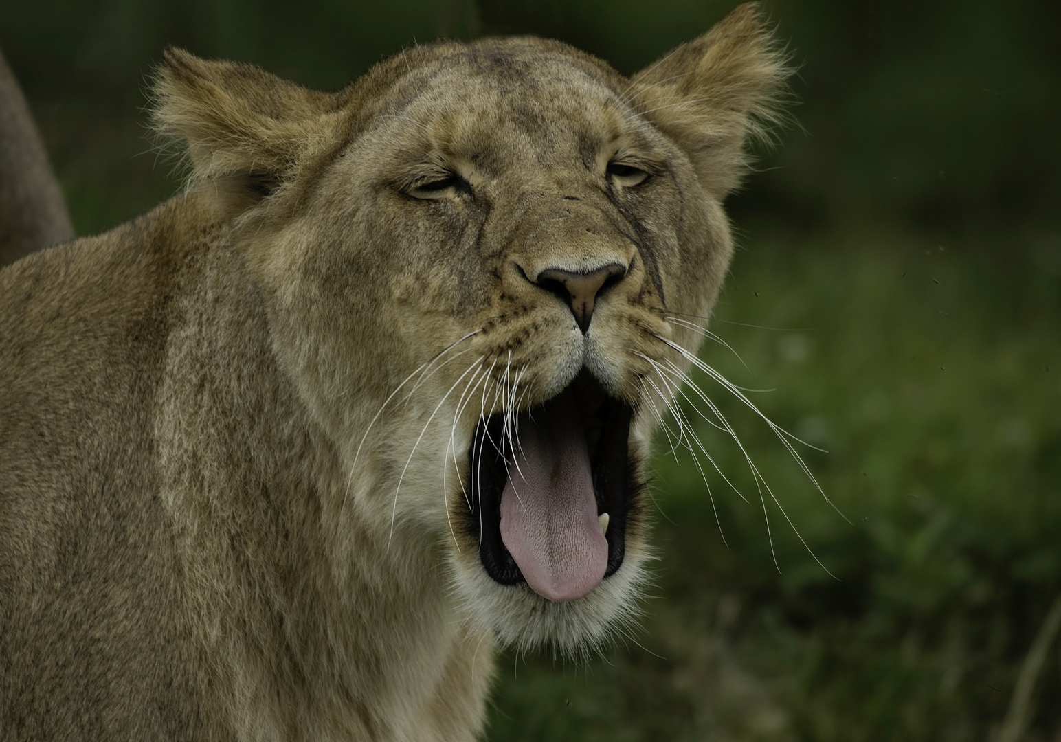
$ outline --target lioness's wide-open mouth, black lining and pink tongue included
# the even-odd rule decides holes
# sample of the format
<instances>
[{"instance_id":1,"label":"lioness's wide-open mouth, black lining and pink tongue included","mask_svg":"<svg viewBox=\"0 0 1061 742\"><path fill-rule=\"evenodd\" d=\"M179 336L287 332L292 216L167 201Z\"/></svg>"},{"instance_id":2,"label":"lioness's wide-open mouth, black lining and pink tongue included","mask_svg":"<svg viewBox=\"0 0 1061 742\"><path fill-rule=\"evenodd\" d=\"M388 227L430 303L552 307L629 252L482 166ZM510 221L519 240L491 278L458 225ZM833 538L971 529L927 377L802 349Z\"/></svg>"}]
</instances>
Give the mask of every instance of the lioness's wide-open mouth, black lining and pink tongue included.
<instances>
[{"instance_id":1,"label":"lioness's wide-open mouth, black lining and pink tongue included","mask_svg":"<svg viewBox=\"0 0 1061 742\"><path fill-rule=\"evenodd\" d=\"M584 369L538 407L480 422L466 522L490 577L562 602L619 569L634 494L631 414Z\"/></svg>"}]
</instances>

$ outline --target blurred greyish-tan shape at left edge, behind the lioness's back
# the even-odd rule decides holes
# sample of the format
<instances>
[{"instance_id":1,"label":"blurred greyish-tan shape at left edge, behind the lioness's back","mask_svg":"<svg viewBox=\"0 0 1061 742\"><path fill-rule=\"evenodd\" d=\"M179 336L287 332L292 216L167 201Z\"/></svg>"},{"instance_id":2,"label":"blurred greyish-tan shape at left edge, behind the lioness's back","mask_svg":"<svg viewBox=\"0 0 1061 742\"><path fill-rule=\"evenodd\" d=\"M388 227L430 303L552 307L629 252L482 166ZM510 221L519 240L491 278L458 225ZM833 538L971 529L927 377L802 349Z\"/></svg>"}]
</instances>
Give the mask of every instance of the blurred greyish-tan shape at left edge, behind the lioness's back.
<instances>
[{"instance_id":1,"label":"blurred greyish-tan shape at left edge, behind the lioness's back","mask_svg":"<svg viewBox=\"0 0 1061 742\"><path fill-rule=\"evenodd\" d=\"M22 91L0 53L0 265L71 239L63 191Z\"/></svg>"}]
</instances>

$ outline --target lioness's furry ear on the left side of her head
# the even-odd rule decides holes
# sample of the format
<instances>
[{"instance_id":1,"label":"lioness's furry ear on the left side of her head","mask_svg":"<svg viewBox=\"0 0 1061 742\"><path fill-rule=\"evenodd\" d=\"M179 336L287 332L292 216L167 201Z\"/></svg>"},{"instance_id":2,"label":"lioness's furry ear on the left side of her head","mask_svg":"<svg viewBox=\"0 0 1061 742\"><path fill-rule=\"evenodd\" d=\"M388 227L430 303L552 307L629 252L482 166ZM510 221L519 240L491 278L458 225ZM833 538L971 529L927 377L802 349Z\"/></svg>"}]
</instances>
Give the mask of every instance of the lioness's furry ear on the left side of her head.
<instances>
[{"instance_id":1,"label":"lioness's furry ear on the left side of her head","mask_svg":"<svg viewBox=\"0 0 1061 742\"><path fill-rule=\"evenodd\" d=\"M193 182L210 180L226 210L294 183L333 144L331 96L172 47L164 59L154 86L155 130L187 143Z\"/></svg>"}]
</instances>

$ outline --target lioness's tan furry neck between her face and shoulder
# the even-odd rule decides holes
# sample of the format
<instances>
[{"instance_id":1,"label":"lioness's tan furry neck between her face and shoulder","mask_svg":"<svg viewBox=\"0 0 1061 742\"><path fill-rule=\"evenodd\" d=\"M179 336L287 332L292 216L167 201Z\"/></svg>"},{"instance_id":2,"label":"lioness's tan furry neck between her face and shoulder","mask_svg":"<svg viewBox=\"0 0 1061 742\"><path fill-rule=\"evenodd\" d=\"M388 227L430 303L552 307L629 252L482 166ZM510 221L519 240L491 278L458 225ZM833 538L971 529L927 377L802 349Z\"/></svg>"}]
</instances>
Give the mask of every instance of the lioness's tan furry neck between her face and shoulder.
<instances>
[{"instance_id":1,"label":"lioness's tan furry neck between her face and shoulder","mask_svg":"<svg viewBox=\"0 0 1061 742\"><path fill-rule=\"evenodd\" d=\"M471 734L491 639L452 604L437 547L343 505L338 456L278 367L240 255L189 265L156 433L206 685L232 689L219 701L248 738L387 739L396 719Z\"/></svg>"}]
</instances>

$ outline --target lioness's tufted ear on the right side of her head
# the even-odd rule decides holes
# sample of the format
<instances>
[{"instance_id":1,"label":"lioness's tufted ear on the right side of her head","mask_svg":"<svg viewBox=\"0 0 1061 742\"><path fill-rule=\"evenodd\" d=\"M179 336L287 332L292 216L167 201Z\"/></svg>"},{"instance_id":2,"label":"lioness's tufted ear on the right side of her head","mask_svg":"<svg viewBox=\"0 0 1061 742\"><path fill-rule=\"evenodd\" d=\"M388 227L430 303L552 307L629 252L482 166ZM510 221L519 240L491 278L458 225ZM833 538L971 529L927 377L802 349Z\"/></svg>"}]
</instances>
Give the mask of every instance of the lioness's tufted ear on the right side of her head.
<instances>
[{"instance_id":1,"label":"lioness's tufted ear on the right side of her head","mask_svg":"<svg viewBox=\"0 0 1061 742\"><path fill-rule=\"evenodd\" d=\"M744 142L779 122L790 70L755 3L738 5L631 81L630 100L689 155L716 199L740 185Z\"/></svg>"}]
</instances>

